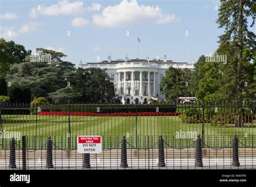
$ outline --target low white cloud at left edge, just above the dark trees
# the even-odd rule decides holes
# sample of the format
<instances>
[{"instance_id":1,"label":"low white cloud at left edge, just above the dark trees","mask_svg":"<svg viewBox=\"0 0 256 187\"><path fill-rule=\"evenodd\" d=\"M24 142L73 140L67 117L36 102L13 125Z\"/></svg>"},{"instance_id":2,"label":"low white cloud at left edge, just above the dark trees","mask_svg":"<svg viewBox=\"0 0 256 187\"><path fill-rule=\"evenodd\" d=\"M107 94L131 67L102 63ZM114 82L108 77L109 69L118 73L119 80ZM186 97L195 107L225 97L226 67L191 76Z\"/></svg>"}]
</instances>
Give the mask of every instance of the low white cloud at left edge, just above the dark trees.
<instances>
[{"instance_id":1,"label":"low white cloud at left edge, just above the dark trees","mask_svg":"<svg viewBox=\"0 0 256 187\"><path fill-rule=\"evenodd\" d=\"M38 27L41 26L41 23L30 22L23 24L18 30L14 26L0 26L0 37L3 38L16 38L19 34L29 33L33 31L37 31Z\"/></svg>"}]
</instances>

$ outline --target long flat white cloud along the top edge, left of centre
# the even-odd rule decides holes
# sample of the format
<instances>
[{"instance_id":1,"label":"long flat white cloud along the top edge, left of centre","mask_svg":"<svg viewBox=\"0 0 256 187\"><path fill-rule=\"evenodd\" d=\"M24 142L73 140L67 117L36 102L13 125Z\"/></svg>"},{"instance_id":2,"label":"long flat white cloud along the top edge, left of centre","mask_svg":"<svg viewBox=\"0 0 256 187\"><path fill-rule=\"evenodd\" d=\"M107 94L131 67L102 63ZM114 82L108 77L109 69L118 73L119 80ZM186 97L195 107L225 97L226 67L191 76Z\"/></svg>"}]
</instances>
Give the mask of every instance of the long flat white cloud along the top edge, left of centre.
<instances>
[{"instance_id":1,"label":"long flat white cloud along the top edge, left of centre","mask_svg":"<svg viewBox=\"0 0 256 187\"><path fill-rule=\"evenodd\" d=\"M78 15L86 11L96 11L100 8L102 8L102 5L99 3L92 3L91 6L86 7L81 1L69 2L68 0L63 0L49 6L39 5L39 9L33 8L30 10L29 17L35 18L37 14L45 16Z\"/></svg>"}]
</instances>

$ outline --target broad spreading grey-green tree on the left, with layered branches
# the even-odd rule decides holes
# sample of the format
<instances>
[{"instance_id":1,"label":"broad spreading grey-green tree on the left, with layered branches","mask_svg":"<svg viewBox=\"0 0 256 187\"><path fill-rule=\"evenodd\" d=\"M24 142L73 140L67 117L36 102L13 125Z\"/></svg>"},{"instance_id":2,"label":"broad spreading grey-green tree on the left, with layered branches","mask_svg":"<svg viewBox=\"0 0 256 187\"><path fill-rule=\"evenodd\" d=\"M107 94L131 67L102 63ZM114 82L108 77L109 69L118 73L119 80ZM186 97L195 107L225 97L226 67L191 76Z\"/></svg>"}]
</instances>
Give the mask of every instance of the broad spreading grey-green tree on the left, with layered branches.
<instances>
[{"instance_id":1,"label":"broad spreading grey-green tree on the left, with layered branches","mask_svg":"<svg viewBox=\"0 0 256 187\"><path fill-rule=\"evenodd\" d=\"M14 64L6 79L20 88L29 88L34 97L47 97L49 93L75 84L76 68L71 62L62 61L63 53L37 48L39 55L51 54L51 62L33 62L28 57L26 62Z\"/></svg>"}]
</instances>

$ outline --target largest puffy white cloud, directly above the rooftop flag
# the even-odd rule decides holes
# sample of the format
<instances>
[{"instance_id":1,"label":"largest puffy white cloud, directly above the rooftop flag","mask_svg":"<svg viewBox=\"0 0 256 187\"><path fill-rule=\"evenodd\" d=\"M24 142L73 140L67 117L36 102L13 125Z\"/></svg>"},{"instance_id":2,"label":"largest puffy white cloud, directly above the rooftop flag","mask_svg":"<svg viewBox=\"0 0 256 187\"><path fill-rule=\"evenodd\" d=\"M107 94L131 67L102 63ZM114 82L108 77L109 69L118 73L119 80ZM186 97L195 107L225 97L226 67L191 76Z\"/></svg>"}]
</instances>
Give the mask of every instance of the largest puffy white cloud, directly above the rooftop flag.
<instances>
[{"instance_id":1,"label":"largest puffy white cloud, directly above the rooftop flag","mask_svg":"<svg viewBox=\"0 0 256 187\"><path fill-rule=\"evenodd\" d=\"M174 14L164 14L160 8L149 5L139 5L136 0L123 0L117 5L107 6L102 15L93 15L95 25L106 27L127 26L145 21L156 24L170 23L176 19Z\"/></svg>"}]
</instances>

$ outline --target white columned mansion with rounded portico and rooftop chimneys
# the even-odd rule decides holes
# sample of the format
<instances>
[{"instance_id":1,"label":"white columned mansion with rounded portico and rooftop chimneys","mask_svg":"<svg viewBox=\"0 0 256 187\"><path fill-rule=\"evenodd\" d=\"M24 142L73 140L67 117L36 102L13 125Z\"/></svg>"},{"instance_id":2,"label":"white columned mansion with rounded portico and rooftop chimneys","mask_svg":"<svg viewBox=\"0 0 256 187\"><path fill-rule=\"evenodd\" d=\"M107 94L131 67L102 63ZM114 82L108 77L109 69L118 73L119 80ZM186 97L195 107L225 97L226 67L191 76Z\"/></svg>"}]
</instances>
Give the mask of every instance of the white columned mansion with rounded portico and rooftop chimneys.
<instances>
[{"instance_id":1,"label":"white columned mansion with rounded portico and rooftop chimneys","mask_svg":"<svg viewBox=\"0 0 256 187\"><path fill-rule=\"evenodd\" d=\"M165 70L170 66L174 68L188 68L193 70L193 64L187 62L173 62L167 60L164 56L163 60L145 59L123 59L111 60L111 56L107 57L107 61L102 62L80 62L79 67L90 68L98 67L107 69L111 81L116 88L117 99L122 100L124 96L126 103L149 102L151 99L164 99L164 95L160 89L160 81L165 76ZM137 99L136 99L137 98Z\"/></svg>"}]
</instances>

